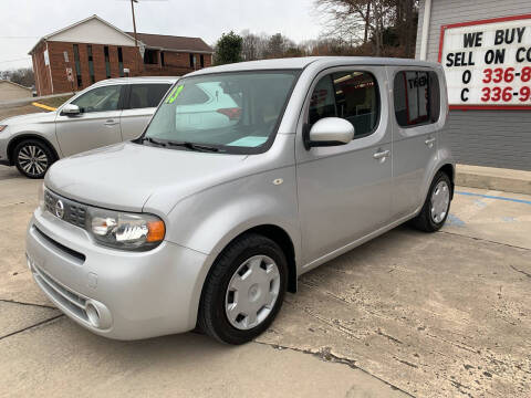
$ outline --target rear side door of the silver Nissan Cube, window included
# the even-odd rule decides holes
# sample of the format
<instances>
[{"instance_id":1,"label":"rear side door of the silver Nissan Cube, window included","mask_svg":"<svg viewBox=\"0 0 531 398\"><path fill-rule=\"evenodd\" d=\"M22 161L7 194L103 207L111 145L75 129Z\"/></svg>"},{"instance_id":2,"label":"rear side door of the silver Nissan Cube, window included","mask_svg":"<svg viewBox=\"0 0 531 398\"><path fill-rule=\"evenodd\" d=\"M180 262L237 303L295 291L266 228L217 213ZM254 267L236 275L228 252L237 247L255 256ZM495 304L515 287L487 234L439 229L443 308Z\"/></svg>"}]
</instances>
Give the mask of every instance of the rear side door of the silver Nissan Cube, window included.
<instances>
[{"instance_id":1,"label":"rear side door of the silver Nissan Cube, window included","mask_svg":"<svg viewBox=\"0 0 531 398\"><path fill-rule=\"evenodd\" d=\"M440 86L437 74L421 67L388 67L393 84L393 216L412 214L424 203L437 161Z\"/></svg>"}]
</instances>

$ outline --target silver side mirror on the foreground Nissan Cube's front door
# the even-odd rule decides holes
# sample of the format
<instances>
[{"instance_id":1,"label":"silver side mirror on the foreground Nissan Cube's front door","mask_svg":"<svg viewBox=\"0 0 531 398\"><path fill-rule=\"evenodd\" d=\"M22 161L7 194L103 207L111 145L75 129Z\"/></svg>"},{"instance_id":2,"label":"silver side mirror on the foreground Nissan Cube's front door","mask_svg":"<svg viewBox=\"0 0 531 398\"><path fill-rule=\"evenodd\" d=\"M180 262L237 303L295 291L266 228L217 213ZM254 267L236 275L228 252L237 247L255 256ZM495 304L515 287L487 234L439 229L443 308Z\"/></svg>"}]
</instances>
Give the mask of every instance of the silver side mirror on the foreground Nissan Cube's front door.
<instances>
[{"instance_id":1,"label":"silver side mirror on the foreground Nissan Cube's front door","mask_svg":"<svg viewBox=\"0 0 531 398\"><path fill-rule=\"evenodd\" d=\"M306 149L348 144L354 138L354 126L340 117L324 117L315 123L304 138Z\"/></svg>"}]
</instances>

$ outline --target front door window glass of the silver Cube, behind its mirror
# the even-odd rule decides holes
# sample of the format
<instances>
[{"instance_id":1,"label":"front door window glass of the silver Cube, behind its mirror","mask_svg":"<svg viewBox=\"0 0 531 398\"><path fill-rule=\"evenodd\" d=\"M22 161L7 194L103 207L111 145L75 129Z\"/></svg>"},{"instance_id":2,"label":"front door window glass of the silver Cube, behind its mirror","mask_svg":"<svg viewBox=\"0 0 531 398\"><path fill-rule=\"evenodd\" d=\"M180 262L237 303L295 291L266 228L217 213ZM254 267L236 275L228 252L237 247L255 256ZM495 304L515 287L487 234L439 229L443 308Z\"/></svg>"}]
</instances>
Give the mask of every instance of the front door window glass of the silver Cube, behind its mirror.
<instances>
[{"instance_id":1,"label":"front door window glass of the silver Cube, behind its mirror","mask_svg":"<svg viewBox=\"0 0 531 398\"><path fill-rule=\"evenodd\" d=\"M367 72L339 72L322 77L310 101L310 127L323 117L341 117L354 126L354 139L374 132L379 118L376 78Z\"/></svg>"}]
</instances>

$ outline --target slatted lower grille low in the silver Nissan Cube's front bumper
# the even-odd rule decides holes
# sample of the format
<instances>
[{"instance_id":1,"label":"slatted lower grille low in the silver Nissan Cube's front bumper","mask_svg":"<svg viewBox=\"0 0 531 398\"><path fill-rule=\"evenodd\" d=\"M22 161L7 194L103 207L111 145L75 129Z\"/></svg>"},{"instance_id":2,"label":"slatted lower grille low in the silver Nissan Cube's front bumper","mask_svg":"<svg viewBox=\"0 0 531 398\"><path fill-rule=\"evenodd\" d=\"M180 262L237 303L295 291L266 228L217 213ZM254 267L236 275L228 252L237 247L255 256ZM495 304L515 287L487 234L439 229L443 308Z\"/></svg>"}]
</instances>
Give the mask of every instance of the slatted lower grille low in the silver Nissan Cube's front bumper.
<instances>
[{"instance_id":1,"label":"slatted lower grille low in the silver Nissan Cube's front bumper","mask_svg":"<svg viewBox=\"0 0 531 398\"><path fill-rule=\"evenodd\" d=\"M34 277L42 290L61 303L72 314L85 322L88 322L88 316L86 315L85 311L86 300L84 297L55 281L34 263L31 264L31 268L33 270Z\"/></svg>"}]
</instances>

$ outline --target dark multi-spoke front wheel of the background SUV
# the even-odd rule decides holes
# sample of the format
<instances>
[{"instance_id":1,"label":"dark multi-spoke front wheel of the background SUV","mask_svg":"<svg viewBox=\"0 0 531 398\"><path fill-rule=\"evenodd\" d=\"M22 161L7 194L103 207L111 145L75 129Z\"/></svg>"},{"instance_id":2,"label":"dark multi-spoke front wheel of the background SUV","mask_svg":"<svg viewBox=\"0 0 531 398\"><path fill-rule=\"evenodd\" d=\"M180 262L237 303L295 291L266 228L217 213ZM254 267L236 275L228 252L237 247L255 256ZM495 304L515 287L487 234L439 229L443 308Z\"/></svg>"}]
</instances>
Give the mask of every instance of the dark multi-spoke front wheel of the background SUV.
<instances>
[{"instance_id":1,"label":"dark multi-spoke front wheel of the background SUV","mask_svg":"<svg viewBox=\"0 0 531 398\"><path fill-rule=\"evenodd\" d=\"M13 163L28 178L43 178L55 157L50 147L38 139L24 139L13 150Z\"/></svg>"}]
</instances>

